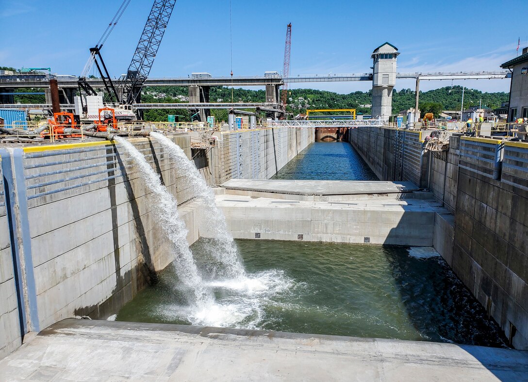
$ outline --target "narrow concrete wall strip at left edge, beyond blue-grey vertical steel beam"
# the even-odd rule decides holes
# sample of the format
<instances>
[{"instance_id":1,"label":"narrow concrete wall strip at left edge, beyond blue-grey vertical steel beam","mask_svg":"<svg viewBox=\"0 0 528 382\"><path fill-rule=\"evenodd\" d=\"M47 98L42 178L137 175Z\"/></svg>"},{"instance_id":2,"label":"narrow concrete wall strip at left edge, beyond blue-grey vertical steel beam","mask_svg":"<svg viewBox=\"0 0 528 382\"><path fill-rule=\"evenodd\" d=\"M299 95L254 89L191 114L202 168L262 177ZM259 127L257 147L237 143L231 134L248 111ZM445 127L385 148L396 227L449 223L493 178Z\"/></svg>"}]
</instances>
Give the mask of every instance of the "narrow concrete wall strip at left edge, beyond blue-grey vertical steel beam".
<instances>
[{"instance_id":1,"label":"narrow concrete wall strip at left edge, beyond blue-grey vertical steel beam","mask_svg":"<svg viewBox=\"0 0 528 382\"><path fill-rule=\"evenodd\" d=\"M22 343L3 178L0 166L0 358Z\"/></svg>"}]
</instances>

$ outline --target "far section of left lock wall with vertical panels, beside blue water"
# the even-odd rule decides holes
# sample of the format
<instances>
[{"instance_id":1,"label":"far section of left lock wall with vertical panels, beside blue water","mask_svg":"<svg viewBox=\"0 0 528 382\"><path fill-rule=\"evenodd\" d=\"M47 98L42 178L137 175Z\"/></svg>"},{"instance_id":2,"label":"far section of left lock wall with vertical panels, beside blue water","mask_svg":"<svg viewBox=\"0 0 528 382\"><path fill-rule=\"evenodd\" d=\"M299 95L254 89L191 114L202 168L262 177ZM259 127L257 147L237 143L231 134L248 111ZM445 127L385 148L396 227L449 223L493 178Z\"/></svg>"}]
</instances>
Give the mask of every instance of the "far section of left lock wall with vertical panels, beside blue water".
<instances>
[{"instance_id":1,"label":"far section of left lock wall with vertical panels, beside blue water","mask_svg":"<svg viewBox=\"0 0 528 382\"><path fill-rule=\"evenodd\" d=\"M214 184L232 178L269 179L315 141L314 129L270 128L215 133L209 164Z\"/></svg>"}]
</instances>

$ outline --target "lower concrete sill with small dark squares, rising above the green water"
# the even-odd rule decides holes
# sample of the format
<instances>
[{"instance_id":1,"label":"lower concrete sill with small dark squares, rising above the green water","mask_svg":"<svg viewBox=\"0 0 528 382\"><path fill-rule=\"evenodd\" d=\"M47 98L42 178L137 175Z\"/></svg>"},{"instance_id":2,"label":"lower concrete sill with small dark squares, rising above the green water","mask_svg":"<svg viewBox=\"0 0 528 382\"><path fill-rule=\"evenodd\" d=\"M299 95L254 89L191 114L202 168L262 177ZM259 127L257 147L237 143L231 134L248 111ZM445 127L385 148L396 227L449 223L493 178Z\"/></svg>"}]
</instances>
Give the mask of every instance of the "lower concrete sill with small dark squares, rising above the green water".
<instances>
[{"instance_id":1,"label":"lower concrete sill with small dark squares, rising above the green water","mask_svg":"<svg viewBox=\"0 0 528 382\"><path fill-rule=\"evenodd\" d=\"M216 205L235 238L410 246L431 246L435 215L447 213L434 199L395 199L388 194L361 200L342 195L339 202L284 196L217 195ZM208 227L201 228L201 236L212 234Z\"/></svg>"}]
</instances>

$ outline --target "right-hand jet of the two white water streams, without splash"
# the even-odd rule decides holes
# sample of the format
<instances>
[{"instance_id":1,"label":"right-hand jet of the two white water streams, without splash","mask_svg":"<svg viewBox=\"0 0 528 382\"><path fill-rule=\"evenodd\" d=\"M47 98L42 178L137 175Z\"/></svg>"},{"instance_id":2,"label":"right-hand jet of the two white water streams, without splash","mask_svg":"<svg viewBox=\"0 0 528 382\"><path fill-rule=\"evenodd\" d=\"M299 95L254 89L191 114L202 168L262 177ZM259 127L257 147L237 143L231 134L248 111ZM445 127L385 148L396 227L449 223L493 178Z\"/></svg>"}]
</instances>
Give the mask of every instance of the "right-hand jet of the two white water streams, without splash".
<instances>
[{"instance_id":1,"label":"right-hand jet of the two white water streams, without splash","mask_svg":"<svg viewBox=\"0 0 528 382\"><path fill-rule=\"evenodd\" d=\"M151 132L150 136L156 139L169 153L171 159L175 161L175 167L185 177L185 180L197 199L201 199L202 227L206 227L209 234L214 239L211 241L211 253L215 259L223 266L220 270L221 276L231 279L242 279L246 277L246 271L240 260L237 246L233 236L228 231L225 216L216 206L214 192L207 185L205 179L196 169L192 160L189 160L182 148L176 145L171 139L159 132Z\"/></svg>"}]
</instances>

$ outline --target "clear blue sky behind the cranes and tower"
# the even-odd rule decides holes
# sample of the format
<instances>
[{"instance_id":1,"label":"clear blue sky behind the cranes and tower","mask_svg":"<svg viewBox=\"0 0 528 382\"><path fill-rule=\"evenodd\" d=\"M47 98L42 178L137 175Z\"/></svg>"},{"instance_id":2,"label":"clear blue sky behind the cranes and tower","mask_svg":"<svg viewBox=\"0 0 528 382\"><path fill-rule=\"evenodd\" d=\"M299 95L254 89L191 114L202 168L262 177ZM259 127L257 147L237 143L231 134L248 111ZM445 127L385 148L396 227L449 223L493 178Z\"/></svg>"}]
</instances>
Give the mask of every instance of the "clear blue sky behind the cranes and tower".
<instances>
[{"instance_id":1,"label":"clear blue sky behind the cranes and tower","mask_svg":"<svg viewBox=\"0 0 528 382\"><path fill-rule=\"evenodd\" d=\"M43 66L79 75L121 0L0 0L0 65ZM152 0L132 0L102 49L112 76L125 73ZM290 73L364 73L385 41L401 55L398 71L499 70L528 46L526 0L378 1L232 0L233 72L282 70L286 25L293 24ZM522 22L521 22L522 21ZM178 0L150 73L229 75L229 0ZM507 80L455 81L485 91L508 91ZM451 85L422 81L421 90ZM300 87L349 93L367 82ZM299 87L299 86L297 86ZM413 88L398 81L396 88Z\"/></svg>"}]
</instances>

